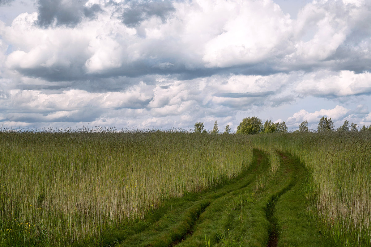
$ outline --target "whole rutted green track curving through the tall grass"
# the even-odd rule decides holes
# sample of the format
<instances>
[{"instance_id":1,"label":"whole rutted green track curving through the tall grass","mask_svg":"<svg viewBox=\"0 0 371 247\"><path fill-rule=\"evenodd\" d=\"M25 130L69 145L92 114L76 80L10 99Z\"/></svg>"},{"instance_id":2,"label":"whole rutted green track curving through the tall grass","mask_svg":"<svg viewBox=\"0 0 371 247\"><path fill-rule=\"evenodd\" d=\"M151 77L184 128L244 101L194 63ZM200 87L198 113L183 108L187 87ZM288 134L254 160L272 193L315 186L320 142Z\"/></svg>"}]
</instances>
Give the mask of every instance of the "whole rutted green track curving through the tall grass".
<instances>
[{"instance_id":1,"label":"whole rutted green track curving through the tall grass","mask_svg":"<svg viewBox=\"0 0 371 247\"><path fill-rule=\"evenodd\" d=\"M103 246L328 246L306 214L308 173L286 153L272 174L269 157L254 150L247 171L214 190L188 193L144 221L102 234Z\"/></svg>"}]
</instances>

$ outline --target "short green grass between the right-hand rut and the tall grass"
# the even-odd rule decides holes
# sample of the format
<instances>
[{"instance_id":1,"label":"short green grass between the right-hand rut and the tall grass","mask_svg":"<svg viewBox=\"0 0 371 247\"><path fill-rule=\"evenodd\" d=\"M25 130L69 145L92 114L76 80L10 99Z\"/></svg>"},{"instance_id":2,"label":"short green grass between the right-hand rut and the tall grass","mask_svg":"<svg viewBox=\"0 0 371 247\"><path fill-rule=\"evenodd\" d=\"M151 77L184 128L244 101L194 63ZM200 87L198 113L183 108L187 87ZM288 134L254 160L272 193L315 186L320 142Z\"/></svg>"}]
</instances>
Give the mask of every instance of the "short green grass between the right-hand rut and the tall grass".
<instances>
[{"instance_id":1,"label":"short green grass between the right-hand rut and the tall grass","mask_svg":"<svg viewBox=\"0 0 371 247\"><path fill-rule=\"evenodd\" d=\"M308 170L298 158L280 155L282 166L290 166L292 175L290 189L275 202L278 246L334 246L331 236L322 234L321 224L313 212L315 204L308 198L311 186Z\"/></svg>"}]
</instances>

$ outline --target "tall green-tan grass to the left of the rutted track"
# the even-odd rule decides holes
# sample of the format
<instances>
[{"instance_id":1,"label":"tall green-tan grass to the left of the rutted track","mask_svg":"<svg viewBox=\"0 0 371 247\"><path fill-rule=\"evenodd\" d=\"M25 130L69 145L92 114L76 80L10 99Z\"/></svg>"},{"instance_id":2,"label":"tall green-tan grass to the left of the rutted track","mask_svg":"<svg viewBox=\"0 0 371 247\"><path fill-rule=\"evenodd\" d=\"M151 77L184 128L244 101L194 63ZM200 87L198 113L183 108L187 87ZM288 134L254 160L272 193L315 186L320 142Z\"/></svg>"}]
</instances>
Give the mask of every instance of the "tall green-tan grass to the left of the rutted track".
<instances>
[{"instance_id":1,"label":"tall green-tan grass to the left of the rutted track","mask_svg":"<svg viewBox=\"0 0 371 247\"><path fill-rule=\"evenodd\" d=\"M242 136L184 131L2 131L0 234L58 245L97 236L236 176L251 162L248 146ZM18 228L29 222L27 235Z\"/></svg>"}]
</instances>

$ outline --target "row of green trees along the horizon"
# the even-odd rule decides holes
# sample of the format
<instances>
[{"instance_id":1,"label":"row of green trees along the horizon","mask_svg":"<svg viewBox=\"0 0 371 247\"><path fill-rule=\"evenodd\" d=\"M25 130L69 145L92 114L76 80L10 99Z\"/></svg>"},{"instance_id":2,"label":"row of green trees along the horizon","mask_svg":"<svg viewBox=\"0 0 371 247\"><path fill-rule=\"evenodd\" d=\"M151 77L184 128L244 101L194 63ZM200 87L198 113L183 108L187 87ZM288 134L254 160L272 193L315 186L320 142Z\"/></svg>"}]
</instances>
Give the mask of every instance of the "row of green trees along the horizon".
<instances>
[{"instance_id":1,"label":"row of green trees along the horizon","mask_svg":"<svg viewBox=\"0 0 371 247\"><path fill-rule=\"evenodd\" d=\"M231 128L229 124L224 128L224 131L219 131L218 123L215 121L213 130L210 132L207 132L204 129L204 123L203 122L197 122L194 124L194 132L196 133L210 133L210 134L230 134ZM246 117L244 118L239 126L237 126L236 134L259 134L259 133L287 133L288 128L286 126L285 122L281 123L273 123L271 120L265 121L264 125L262 123L262 120L258 117ZM308 121L305 120L299 125L299 129L295 130L294 132L309 132L308 128ZM326 132L326 131L339 131L339 132L353 132L358 131L357 124L352 123L349 124L348 120L344 121L344 124L339 128L334 128L334 122L331 120L331 117L327 119L327 117L322 117L319 120L317 129L315 132ZM362 126L362 128L359 130L361 132L363 131L371 131L371 125L369 127Z\"/></svg>"}]
</instances>

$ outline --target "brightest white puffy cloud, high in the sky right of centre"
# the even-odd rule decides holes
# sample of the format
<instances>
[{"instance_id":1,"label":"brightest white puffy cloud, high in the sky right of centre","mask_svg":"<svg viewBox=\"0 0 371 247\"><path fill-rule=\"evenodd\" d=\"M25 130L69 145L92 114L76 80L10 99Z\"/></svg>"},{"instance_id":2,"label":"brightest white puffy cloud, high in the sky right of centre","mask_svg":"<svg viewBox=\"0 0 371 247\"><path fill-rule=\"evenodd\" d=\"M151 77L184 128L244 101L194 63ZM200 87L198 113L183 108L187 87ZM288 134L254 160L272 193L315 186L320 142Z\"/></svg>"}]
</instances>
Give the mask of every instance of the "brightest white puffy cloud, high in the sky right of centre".
<instances>
[{"instance_id":1,"label":"brightest white puffy cloud, high in the sky right of centre","mask_svg":"<svg viewBox=\"0 0 371 247\"><path fill-rule=\"evenodd\" d=\"M223 16L216 22L219 33L205 44L207 67L258 63L290 51L292 20L273 1L224 1L207 11L215 13L213 19ZM264 28L258 23L264 23Z\"/></svg>"}]
</instances>

